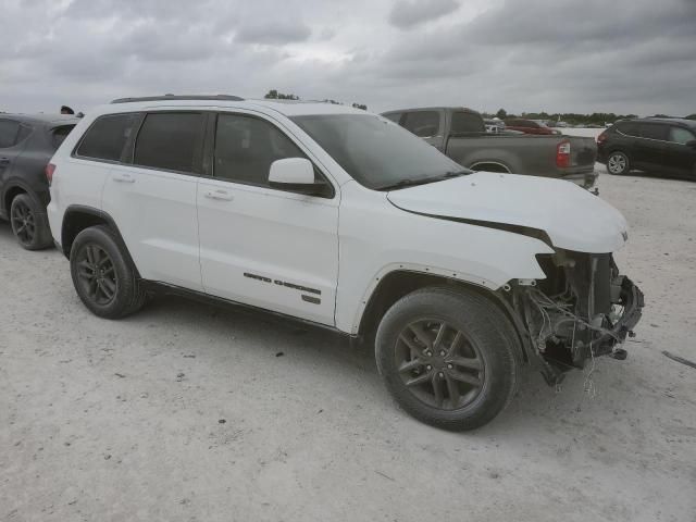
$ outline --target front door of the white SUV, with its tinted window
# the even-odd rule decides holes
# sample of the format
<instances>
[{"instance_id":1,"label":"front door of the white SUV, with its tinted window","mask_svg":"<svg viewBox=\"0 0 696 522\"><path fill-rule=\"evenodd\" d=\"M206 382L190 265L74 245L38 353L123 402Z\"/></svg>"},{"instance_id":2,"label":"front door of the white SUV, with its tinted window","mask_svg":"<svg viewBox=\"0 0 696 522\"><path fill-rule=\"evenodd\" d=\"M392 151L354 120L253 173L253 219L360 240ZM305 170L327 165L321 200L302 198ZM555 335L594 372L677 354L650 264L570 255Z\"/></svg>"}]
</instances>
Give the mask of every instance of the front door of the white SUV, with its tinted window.
<instances>
[{"instance_id":1,"label":"front door of the white SUV, with its tinted window","mask_svg":"<svg viewBox=\"0 0 696 522\"><path fill-rule=\"evenodd\" d=\"M269 187L273 161L308 158L271 122L223 113L211 127L211 175L199 179L197 198L206 291L334 325L338 195Z\"/></svg>"}]
</instances>

